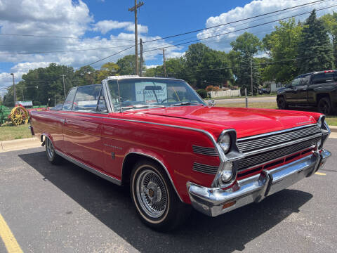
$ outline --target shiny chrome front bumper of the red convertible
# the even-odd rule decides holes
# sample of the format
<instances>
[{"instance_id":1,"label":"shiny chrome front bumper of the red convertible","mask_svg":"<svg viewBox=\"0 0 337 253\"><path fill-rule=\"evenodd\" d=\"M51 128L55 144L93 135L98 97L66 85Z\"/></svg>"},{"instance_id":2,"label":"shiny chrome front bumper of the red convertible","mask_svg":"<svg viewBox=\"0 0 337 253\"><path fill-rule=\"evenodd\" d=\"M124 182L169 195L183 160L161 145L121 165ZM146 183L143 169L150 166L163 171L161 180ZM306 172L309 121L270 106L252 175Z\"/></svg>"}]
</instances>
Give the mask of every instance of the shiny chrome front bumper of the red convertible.
<instances>
[{"instance_id":1,"label":"shiny chrome front bumper of the red convertible","mask_svg":"<svg viewBox=\"0 0 337 253\"><path fill-rule=\"evenodd\" d=\"M218 216L252 202L260 202L268 195L277 193L305 177L315 174L331 155L328 150L264 170L261 174L237 181L231 188L206 188L187 182L192 206L209 216Z\"/></svg>"}]
</instances>

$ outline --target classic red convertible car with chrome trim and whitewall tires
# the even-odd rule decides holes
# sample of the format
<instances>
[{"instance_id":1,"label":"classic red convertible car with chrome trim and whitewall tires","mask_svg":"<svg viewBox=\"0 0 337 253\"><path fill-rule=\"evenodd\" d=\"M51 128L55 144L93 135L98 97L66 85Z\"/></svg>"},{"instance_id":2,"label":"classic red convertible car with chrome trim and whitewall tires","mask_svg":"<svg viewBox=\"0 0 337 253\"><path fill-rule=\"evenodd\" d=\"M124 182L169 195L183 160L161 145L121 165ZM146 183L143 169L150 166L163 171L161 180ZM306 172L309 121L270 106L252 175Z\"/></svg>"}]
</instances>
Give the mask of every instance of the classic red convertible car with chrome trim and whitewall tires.
<instances>
[{"instance_id":1,"label":"classic red convertible car with chrome trim and whitewall tires","mask_svg":"<svg viewBox=\"0 0 337 253\"><path fill-rule=\"evenodd\" d=\"M32 134L65 158L129 184L147 226L169 230L190 206L218 216L315 174L331 155L324 115L204 103L183 80L108 77L32 112Z\"/></svg>"}]
</instances>

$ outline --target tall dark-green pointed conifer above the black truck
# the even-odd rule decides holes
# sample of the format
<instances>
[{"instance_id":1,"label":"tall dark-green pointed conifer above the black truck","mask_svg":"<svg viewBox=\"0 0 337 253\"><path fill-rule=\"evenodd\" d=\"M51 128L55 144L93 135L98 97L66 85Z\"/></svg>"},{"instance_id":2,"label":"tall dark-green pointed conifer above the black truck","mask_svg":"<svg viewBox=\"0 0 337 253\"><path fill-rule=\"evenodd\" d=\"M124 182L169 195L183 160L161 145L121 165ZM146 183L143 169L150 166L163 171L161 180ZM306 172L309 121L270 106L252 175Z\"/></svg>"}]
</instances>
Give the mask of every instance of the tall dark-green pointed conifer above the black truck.
<instances>
[{"instance_id":1,"label":"tall dark-green pointed conifer above the black truck","mask_svg":"<svg viewBox=\"0 0 337 253\"><path fill-rule=\"evenodd\" d=\"M332 45L322 20L313 10L305 21L298 44L299 73L330 70L333 67Z\"/></svg>"}]
</instances>

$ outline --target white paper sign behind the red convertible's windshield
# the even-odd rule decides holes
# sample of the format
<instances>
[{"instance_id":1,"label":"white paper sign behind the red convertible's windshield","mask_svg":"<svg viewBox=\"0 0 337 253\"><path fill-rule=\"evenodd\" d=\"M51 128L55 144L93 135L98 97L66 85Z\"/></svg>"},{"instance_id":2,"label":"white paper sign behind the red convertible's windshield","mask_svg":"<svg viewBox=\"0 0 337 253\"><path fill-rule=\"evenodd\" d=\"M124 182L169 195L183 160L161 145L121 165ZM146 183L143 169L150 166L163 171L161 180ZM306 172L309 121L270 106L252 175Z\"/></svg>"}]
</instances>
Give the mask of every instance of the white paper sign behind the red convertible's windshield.
<instances>
[{"instance_id":1,"label":"white paper sign behind the red convertible's windshield","mask_svg":"<svg viewBox=\"0 0 337 253\"><path fill-rule=\"evenodd\" d=\"M158 89L158 86L160 86L161 89ZM151 87L153 87L153 89L151 89ZM157 104L157 99L159 103L167 99L166 84L156 84L153 82L141 82L141 83L135 84L135 90L136 90L136 100L137 101L144 101L145 103L150 103L150 104L156 103ZM156 96L157 96L157 99L156 99Z\"/></svg>"}]
</instances>

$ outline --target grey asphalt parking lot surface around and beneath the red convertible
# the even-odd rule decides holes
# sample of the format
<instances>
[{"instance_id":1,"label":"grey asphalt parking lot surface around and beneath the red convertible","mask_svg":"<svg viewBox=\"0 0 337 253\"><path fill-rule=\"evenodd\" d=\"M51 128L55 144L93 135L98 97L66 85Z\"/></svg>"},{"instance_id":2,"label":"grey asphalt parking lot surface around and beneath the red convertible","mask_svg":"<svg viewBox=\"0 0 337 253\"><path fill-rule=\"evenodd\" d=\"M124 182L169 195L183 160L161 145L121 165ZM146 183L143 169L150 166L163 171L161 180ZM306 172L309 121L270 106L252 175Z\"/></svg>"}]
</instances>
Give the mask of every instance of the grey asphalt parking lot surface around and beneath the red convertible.
<instances>
[{"instance_id":1,"label":"grey asphalt parking lot surface around and beneath the red convertible","mask_svg":"<svg viewBox=\"0 0 337 253\"><path fill-rule=\"evenodd\" d=\"M128 188L53 166L44 148L1 153L0 218L23 252L336 252L337 139L325 148L319 174L223 216L192 212L166 234L143 226Z\"/></svg>"}]
</instances>

